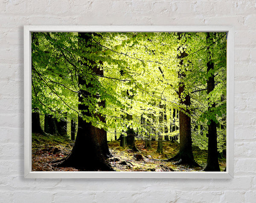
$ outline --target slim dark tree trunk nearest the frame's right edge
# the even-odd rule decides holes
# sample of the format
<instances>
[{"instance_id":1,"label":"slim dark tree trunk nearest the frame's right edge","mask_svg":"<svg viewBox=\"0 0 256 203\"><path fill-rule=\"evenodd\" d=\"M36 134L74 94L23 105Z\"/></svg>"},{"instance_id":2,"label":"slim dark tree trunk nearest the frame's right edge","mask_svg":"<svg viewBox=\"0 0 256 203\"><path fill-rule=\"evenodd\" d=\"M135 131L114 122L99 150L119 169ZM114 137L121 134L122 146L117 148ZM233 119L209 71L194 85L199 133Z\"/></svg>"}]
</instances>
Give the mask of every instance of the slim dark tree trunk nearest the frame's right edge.
<instances>
[{"instance_id":1,"label":"slim dark tree trunk nearest the frame's right edge","mask_svg":"<svg viewBox=\"0 0 256 203\"><path fill-rule=\"evenodd\" d=\"M210 43L213 38L210 36L209 32L207 33L207 43ZM209 49L209 48L208 48ZM207 73L214 69L214 63L211 60L211 53L208 50L209 60L207 62ZM214 73L207 80L207 94L210 94L214 90L215 81ZM215 103L208 107L208 111L215 108ZM207 156L207 165L204 168L204 171L220 171L220 166L218 163L218 148L217 148L217 126L213 120L210 120L208 125L208 156Z\"/></svg>"}]
</instances>

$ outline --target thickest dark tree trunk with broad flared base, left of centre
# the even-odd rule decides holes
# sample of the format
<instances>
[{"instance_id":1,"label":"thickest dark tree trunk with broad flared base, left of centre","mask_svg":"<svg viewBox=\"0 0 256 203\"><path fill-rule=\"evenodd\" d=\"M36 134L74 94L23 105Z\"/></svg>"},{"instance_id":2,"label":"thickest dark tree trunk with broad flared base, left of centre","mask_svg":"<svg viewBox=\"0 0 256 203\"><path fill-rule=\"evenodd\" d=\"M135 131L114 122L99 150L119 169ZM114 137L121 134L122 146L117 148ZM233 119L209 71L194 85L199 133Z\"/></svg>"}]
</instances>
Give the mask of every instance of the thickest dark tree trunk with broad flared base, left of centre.
<instances>
[{"instance_id":1,"label":"thickest dark tree trunk with broad flared base, left of centre","mask_svg":"<svg viewBox=\"0 0 256 203\"><path fill-rule=\"evenodd\" d=\"M90 34L79 33L79 36L86 42L91 41ZM93 73L103 75L103 70L93 66L93 61L90 61L90 63L91 65L88 68L91 69ZM82 86L92 88L94 87L92 83L97 83L95 78L88 80L90 81L86 81L85 77L81 75L81 73L79 74L78 83L81 89L79 91L78 109L82 116L92 116L89 107L84 104L84 100L87 100L88 97L99 97L98 95L91 95L90 92L82 88ZM99 106L105 107L105 101L102 100ZM98 116L99 120L105 123L105 117L102 115L94 114L94 116ZM110 155L107 143L107 132L104 129L94 127L91 122L87 123L79 116L75 145L71 153L61 163L57 164L57 166L76 167L85 171L112 171L113 169L105 160Z\"/></svg>"}]
</instances>

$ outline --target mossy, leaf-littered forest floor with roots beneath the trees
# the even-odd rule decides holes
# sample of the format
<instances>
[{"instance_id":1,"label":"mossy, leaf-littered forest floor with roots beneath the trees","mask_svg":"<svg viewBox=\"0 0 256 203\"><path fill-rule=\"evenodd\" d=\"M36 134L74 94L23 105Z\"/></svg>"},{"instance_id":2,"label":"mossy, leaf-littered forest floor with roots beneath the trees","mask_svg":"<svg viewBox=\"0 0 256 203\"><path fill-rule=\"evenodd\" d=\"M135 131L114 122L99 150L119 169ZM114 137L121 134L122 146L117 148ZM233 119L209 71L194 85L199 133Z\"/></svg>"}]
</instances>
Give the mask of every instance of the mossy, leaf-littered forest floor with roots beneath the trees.
<instances>
[{"instance_id":1,"label":"mossy, leaf-littered forest floor with roots beneath the trees","mask_svg":"<svg viewBox=\"0 0 256 203\"><path fill-rule=\"evenodd\" d=\"M163 161L173 157L179 151L179 143L163 141L163 154L156 153L157 141L151 141L152 149L144 149L145 141L136 140L140 152L120 147L117 140L108 142L113 157L108 159L116 171L201 171L206 166L207 150L193 146L195 161L201 167L176 165L175 162ZM52 163L61 160L72 150L74 141L58 136L32 134L32 171L79 171L71 167L55 167ZM226 167L226 158L219 159L221 171Z\"/></svg>"}]
</instances>

